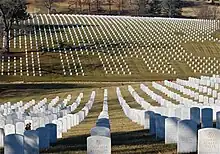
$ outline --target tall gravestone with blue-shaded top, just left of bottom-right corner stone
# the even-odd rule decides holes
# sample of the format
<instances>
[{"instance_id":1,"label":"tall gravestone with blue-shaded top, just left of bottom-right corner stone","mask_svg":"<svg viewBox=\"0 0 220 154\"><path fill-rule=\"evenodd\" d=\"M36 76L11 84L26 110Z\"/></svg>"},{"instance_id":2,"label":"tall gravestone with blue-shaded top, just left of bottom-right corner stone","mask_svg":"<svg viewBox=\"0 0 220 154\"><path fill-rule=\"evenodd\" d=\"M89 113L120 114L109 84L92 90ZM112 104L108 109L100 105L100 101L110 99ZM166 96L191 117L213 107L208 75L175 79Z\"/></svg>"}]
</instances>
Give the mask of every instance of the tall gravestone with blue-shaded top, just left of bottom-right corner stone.
<instances>
[{"instance_id":1,"label":"tall gravestone with blue-shaded top, just left of bottom-right corner stone","mask_svg":"<svg viewBox=\"0 0 220 154\"><path fill-rule=\"evenodd\" d=\"M197 123L192 120L178 122L177 152L190 153L197 150Z\"/></svg>"}]
</instances>

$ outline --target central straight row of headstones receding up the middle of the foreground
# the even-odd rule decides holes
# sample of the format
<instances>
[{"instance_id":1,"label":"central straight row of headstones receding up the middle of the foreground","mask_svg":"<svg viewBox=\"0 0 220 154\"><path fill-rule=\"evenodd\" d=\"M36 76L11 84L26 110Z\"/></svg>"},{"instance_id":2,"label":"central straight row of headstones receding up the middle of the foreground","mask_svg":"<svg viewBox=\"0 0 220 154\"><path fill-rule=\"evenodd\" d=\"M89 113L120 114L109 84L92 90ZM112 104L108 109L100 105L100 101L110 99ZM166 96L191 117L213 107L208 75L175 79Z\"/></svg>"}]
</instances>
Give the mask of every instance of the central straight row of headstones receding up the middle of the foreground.
<instances>
[{"instance_id":1,"label":"central straight row of headstones receding up the middle of the foreground","mask_svg":"<svg viewBox=\"0 0 220 154\"><path fill-rule=\"evenodd\" d=\"M108 115L107 89L104 90L104 101L102 112L96 121L96 126L90 131L90 137L87 138L88 154L111 154L111 131Z\"/></svg>"}]
</instances>

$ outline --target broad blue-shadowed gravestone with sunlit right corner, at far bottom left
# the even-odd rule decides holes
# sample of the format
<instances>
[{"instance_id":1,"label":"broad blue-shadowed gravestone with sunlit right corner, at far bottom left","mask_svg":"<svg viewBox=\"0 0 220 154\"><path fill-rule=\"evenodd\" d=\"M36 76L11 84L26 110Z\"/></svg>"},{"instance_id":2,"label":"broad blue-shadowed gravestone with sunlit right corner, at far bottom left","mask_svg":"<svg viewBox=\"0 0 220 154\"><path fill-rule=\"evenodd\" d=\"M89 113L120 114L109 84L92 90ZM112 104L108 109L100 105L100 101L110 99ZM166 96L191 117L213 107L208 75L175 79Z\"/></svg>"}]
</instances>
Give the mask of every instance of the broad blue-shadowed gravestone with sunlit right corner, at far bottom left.
<instances>
[{"instance_id":1,"label":"broad blue-shadowed gravestone with sunlit right corner, at far bottom left","mask_svg":"<svg viewBox=\"0 0 220 154\"><path fill-rule=\"evenodd\" d=\"M5 136L4 154L24 154L24 136L20 134Z\"/></svg>"}]
</instances>

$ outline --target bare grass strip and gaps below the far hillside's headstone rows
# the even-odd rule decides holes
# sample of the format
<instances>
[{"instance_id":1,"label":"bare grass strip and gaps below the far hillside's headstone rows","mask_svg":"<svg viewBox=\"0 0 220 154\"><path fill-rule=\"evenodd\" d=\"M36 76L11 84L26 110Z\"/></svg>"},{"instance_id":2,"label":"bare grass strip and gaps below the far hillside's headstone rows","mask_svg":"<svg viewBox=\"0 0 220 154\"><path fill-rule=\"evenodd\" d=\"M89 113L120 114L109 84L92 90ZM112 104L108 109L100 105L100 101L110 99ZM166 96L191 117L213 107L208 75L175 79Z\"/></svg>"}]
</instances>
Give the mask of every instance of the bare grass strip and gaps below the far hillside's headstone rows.
<instances>
[{"instance_id":1,"label":"bare grass strip and gaps below the far hillside's headstone rows","mask_svg":"<svg viewBox=\"0 0 220 154\"><path fill-rule=\"evenodd\" d=\"M182 44L186 52L192 53L196 57L215 57L220 60L219 49L220 45L218 43L212 42L188 42ZM64 53L63 53L64 54ZM24 53L11 53L13 56L25 57ZM75 56L75 55L73 55ZM13 70L11 70L10 76L6 73L1 76L0 82L140 82L140 81L158 81L158 80L174 80L176 78L187 79L188 76L199 77L204 75L202 73L193 72L193 70L184 62L179 60L170 61L170 65L174 68L177 74L161 74L153 72L147 68L146 64L141 58L136 57L124 57L126 63L128 64L131 75L128 74L105 74L102 67L101 61L98 55L95 53L82 52L79 54L81 60L82 68L85 72L85 76L79 74L78 76L73 72L73 76L64 76L62 72L62 65L59 59L59 53L41 53L41 70L42 76L32 76L32 70L29 69L30 75L26 76L25 67L23 67L23 76L17 72L17 76L13 76ZM29 64L31 65L31 63ZM73 64L70 62L70 65ZM216 65L219 65L216 63ZM11 61L11 66L13 66L13 61ZM77 68L80 67L76 64ZM7 66L5 66L7 67ZM11 67L12 69L12 67ZM68 70L67 70L68 71ZM209 74L205 74L209 75ZM211 74L210 74L211 75Z\"/></svg>"}]
</instances>

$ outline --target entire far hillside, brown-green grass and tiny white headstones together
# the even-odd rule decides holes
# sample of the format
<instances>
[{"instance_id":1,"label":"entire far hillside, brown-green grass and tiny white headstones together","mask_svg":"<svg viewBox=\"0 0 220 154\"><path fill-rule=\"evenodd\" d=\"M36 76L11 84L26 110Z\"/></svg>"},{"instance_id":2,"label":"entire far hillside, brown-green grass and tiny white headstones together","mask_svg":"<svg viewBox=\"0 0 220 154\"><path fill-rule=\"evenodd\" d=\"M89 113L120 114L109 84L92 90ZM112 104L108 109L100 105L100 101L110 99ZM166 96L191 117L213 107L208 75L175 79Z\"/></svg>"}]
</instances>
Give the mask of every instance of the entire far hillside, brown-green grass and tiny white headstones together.
<instances>
[{"instance_id":1,"label":"entire far hillside, brown-green grass and tiny white headstones together","mask_svg":"<svg viewBox=\"0 0 220 154\"><path fill-rule=\"evenodd\" d=\"M219 74L218 21L32 17L11 31L19 36L10 41L11 53L0 58L1 81L143 81Z\"/></svg>"}]
</instances>

